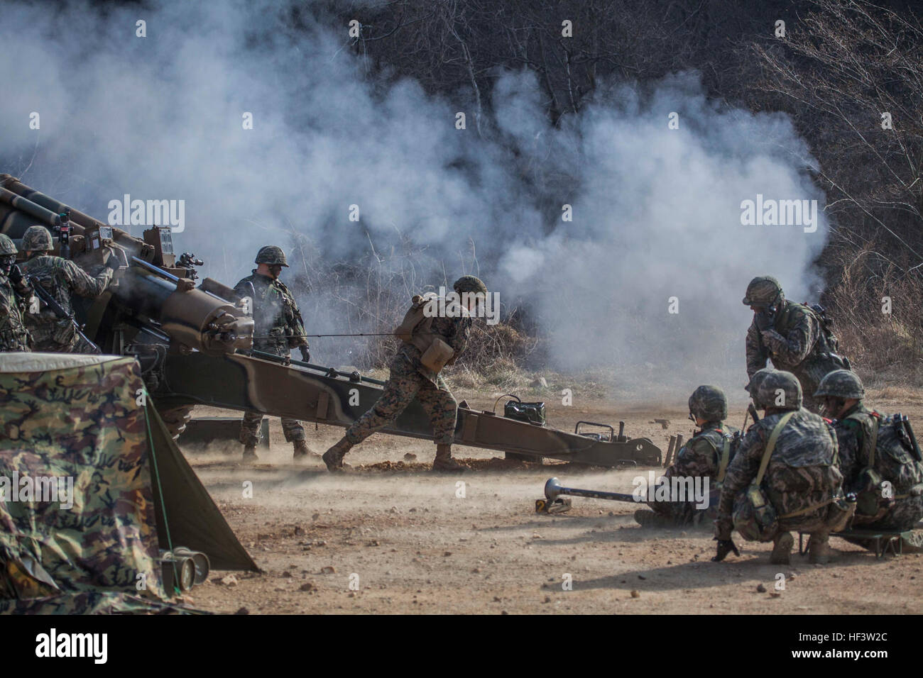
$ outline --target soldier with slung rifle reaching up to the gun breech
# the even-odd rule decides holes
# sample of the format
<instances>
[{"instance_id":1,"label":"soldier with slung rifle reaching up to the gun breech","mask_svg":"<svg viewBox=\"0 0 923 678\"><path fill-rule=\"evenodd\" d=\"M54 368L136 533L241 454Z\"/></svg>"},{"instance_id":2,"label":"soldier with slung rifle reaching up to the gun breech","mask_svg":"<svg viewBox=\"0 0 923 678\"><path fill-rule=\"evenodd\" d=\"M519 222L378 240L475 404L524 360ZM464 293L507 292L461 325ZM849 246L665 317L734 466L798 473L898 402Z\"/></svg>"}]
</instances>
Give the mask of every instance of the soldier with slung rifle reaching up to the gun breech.
<instances>
[{"instance_id":1,"label":"soldier with slung rifle reaching up to the gun breech","mask_svg":"<svg viewBox=\"0 0 923 678\"><path fill-rule=\"evenodd\" d=\"M22 236L22 249L26 251L26 261L22 265L23 275L28 275L33 284L42 287L51 294L67 314L74 313L71 298L74 294L81 297L98 297L109 286L113 271L118 268L118 260L110 256L105 268L95 277L90 276L73 261L60 256L48 254L53 249L52 234L44 226L30 226ZM47 353L98 353L80 337L73 323L66 317L58 317L44 303L39 313L26 315L26 326L34 340L34 350Z\"/></svg>"}]
</instances>

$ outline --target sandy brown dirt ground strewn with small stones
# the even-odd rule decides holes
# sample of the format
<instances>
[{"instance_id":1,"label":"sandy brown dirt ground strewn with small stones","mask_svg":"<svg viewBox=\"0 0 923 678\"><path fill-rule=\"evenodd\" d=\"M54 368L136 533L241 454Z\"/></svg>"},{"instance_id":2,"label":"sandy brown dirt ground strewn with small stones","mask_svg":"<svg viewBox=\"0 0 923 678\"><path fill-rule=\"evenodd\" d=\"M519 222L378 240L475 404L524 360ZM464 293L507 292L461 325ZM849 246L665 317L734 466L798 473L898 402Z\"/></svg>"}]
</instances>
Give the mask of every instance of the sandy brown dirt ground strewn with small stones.
<instances>
[{"instance_id":1,"label":"sandy brown dirt ground strewn with small stones","mask_svg":"<svg viewBox=\"0 0 923 678\"><path fill-rule=\"evenodd\" d=\"M456 395L474 408L493 402L489 394ZM869 396L882 411L923 418L916 392ZM580 419L623 420L626 434L650 437L664 450L670 434L692 433L677 404L666 410L547 401L549 424L563 430ZM732 408L729 422L739 426L743 411ZM236 416L195 412L220 414ZM669 428L654 417L668 419ZM306 424L306 432L309 445L322 452L342 429ZM646 469L574 470L458 446L456 457L470 460L474 470L436 475L425 470L431 443L376 434L347 456L359 468L334 476L319 458L293 463L278 419L270 420L270 442L253 466L240 462L237 445L184 450L264 570L232 577L213 572L186 596L193 607L295 614L923 613L918 554L876 560L833 538L836 562L809 565L807 556L795 554L791 565L780 566L769 564L770 545L737 539L741 557L716 564L710 529L641 529L633 504L574 497L569 513L534 513L551 476L571 487L629 493L631 479ZM405 461L408 454L415 460ZM246 481L252 498L244 497ZM780 574L784 590L776 589Z\"/></svg>"}]
</instances>

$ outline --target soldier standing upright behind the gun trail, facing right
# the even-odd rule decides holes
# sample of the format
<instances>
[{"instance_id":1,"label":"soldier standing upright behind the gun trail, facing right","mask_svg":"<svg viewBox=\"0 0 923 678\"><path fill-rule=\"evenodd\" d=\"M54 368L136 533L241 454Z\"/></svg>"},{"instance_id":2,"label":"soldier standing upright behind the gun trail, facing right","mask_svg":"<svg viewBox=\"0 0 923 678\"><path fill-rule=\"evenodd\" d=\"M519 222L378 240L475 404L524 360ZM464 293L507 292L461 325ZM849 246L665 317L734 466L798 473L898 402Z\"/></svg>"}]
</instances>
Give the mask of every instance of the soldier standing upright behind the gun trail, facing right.
<instances>
[{"instance_id":1,"label":"soldier standing upright behind the gun trail, facing right","mask_svg":"<svg viewBox=\"0 0 923 678\"><path fill-rule=\"evenodd\" d=\"M307 363L305 324L301 311L294 301L289 289L279 280L282 267L288 267L285 253L281 247L267 245L261 247L255 262L257 268L234 287L242 298L252 301L253 312L253 348L282 356L291 360L292 349L299 349ZM244 446L244 458L257 458L259 443L259 424L263 421L261 412L248 411L240 424L240 442ZM308 449L305 429L295 419L282 417L282 432L285 440L294 446L294 459L305 459L313 453Z\"/></svg>"}]
</instances>

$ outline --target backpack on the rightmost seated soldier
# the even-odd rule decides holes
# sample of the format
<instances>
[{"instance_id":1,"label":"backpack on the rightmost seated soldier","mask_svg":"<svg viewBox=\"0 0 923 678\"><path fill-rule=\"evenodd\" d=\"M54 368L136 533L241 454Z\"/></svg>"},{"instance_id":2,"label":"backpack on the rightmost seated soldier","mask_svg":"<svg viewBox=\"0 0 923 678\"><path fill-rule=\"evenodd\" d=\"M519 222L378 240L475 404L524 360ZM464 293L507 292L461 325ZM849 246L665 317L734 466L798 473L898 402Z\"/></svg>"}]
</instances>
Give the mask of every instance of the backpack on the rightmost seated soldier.
<instances>
[{"instance_id":1,"label":"backpack on the rightmost seated soldier","mask_svg":"<svg viewBox=\"0 0 923 678\"><path fill-rule=\"evenodd\" d=\"M891 506L894 499L923 494L923 465L913 428L905 415L883 415L871 412L871 440L863 441L865 467L859 471L857 513L877 516ZM847 420L861 420L857 412ZM885 494L885 484L890 492Z\"/></svg>"}]
</instances>

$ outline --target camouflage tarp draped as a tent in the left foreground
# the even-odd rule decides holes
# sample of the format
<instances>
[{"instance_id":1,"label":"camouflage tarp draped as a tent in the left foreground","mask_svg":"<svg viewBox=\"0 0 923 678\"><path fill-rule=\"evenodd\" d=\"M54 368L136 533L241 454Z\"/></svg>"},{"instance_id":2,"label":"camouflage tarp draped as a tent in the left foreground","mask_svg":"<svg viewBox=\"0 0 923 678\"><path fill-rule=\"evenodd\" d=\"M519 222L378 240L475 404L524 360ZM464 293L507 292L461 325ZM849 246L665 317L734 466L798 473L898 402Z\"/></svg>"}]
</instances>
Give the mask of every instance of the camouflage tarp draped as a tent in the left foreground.
<instances>
[{"instance_id":1,"label":"camouflage tarp draped as a tent in the left foreground","mask_svg":"<svg viewBox=\"0 0 923 678\"><path fill-rule=\"evenodd\" d=\"M143 388L130 358L0 353L0 611L162 610L171 545L256 569Z\"/></svg>"}]
</instances>

